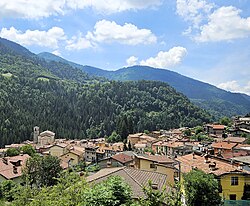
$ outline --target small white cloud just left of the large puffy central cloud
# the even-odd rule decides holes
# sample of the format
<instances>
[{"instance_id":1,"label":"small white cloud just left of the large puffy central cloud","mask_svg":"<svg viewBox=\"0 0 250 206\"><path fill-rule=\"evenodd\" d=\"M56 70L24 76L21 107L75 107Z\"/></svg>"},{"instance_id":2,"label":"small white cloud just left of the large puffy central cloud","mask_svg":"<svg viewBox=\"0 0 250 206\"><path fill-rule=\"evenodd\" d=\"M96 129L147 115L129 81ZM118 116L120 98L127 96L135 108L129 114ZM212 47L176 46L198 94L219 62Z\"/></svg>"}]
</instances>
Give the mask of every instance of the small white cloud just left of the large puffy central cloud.
<instances>
[{"instance_id":1,"label":"small white cloud just left of the large puffy central cloud","mask_svg":"<svg viewBox=\"0 0 250 206\"><path fill-rule=\"evenodd\" d=\"M95 43L92 43L88 39L86 39L82 34L78 37L73 36L70 40L67 40L67 46L65 47L67 50L82 50L87 48L94 48Z\"/></svg>"}]
</instances>

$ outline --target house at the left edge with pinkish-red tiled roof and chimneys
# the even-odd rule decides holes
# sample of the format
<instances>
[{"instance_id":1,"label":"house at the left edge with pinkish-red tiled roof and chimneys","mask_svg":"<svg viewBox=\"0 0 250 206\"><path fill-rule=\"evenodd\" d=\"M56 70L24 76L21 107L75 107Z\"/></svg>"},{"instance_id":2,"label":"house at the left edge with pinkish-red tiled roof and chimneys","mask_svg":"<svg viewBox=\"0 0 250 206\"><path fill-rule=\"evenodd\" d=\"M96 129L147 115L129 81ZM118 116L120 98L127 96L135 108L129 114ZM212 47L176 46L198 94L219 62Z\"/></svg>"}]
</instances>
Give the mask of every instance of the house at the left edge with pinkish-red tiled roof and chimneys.
<instances>
[{"instance_id":1,"label":"house at the left edge with pinkish-red tiled roof and chimneys","mask_svg":"<svg viewBox=\"0 0 250 206\"><path fill-rule=\"evenodd\" d=\"M20 183L22 167L25 165L28 158L30 158L30 156L27 154L0 158L0 182L4 180L13 180Z\"/></svg>"}]
</instances>

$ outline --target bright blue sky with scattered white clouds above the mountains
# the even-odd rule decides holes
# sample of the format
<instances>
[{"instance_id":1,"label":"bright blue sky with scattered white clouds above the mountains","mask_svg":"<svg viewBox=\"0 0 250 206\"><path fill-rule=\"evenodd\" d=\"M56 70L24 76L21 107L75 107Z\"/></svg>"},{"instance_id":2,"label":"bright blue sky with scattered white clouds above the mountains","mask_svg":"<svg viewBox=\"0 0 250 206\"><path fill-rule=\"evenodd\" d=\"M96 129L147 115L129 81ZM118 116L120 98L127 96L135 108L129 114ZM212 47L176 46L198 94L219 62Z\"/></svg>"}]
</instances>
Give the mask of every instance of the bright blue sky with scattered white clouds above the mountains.
<instances>
[{"instance_id":1,"label":"bright blue sky with scattered white clouds above the mountains","mask_svg":"<svg viewBox=\"0 0 250 206\"><path fill-rule=\"evenodd\" d=\"M1 0L0 37L82 65L147 65L250 95L249 0Z\"/></svg>"}]
</instances>

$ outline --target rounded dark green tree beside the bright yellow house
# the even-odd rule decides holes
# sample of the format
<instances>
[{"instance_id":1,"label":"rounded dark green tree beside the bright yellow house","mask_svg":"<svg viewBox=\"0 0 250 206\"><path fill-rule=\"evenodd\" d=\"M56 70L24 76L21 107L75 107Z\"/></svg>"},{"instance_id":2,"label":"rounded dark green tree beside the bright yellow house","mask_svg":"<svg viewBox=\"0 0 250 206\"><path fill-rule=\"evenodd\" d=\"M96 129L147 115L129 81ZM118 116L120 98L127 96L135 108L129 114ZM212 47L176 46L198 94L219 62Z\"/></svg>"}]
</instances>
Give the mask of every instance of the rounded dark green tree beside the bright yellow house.
<instances>
[{"instance_id":1,"label":"rounded dark green tree beside the bright yellow house","mask_svg":"<svg viewBox=\"0 0 250 206\"><path fill-rule=\"evenodd\" d=\"M188 206L219 206L219 184L213 175L192 170L184 176L184 188Z\"/></svg>"}]
</instances>

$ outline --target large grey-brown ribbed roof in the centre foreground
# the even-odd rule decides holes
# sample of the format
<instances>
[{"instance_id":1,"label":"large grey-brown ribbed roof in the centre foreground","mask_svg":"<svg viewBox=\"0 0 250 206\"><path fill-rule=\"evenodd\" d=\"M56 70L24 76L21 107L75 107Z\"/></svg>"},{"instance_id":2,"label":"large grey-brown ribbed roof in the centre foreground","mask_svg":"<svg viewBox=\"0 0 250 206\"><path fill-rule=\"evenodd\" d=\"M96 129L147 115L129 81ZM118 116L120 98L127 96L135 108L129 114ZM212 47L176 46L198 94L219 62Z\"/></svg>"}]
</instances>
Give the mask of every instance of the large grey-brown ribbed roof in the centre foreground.
<instances>
[{"instance_id":1,"label":"large grey-brown ribbed roof in the centre foreground","mask_svg":"<svg viewBox=\"0 0 250 206\"><path fill-rule=\"evenodd\" d=\"M167 185L167 175L126 167L102 169L87 177L87 182L98 183L106 180L110 176L122 177L125 182L130 185L133 192L133 198L144 196L143 187L147 186L149 180L157 185L159 190L165 189L165 186ZM169 191L170 188L166 186L166 190Z\"/></svg>"}]
</instances>

